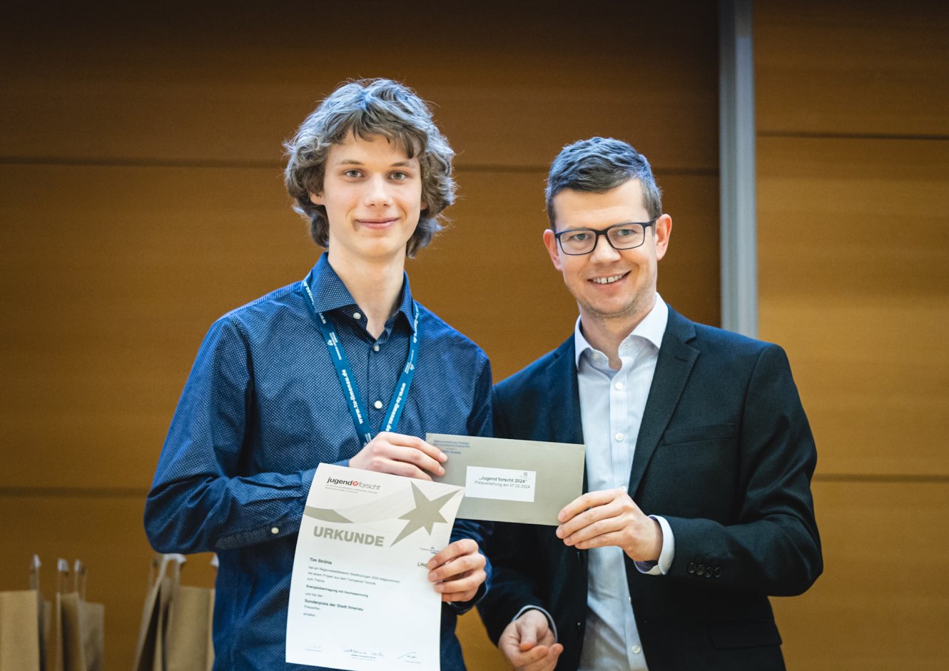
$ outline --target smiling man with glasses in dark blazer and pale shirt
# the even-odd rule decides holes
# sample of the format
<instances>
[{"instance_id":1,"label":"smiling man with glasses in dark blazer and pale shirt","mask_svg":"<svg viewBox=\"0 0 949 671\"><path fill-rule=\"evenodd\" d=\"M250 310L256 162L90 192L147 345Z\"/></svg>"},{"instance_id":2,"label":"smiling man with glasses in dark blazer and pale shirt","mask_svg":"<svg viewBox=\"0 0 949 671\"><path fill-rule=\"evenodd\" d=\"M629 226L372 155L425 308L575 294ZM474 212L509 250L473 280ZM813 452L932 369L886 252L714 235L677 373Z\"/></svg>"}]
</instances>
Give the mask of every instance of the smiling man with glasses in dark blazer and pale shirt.
<instances>
[{"instance_id":1,"label":"smiling man with glasses in dark blazer and pale shirt","mask_svg":"<svg viewBox=\"0 0 949 671\"><path fill-rule=\"evenodd\" d=\"M517 669L783 669L768 595L822 570L816 452L784 351L656 292L672 219L620 140L550 167L544 243L567 342L494 388L498 437L586 444L560 526L498 525L478 606Z\"/></svg>"}]
</instances>

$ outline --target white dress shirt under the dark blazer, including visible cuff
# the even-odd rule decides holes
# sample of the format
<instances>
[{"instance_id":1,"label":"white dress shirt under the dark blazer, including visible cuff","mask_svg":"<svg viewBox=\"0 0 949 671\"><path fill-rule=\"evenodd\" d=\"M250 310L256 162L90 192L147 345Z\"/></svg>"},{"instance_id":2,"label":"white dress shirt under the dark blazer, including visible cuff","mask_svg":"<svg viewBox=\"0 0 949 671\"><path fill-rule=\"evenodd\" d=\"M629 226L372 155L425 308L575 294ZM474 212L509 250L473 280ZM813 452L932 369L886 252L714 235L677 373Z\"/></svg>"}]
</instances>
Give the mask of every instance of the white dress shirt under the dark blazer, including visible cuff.
<instances>
[{"instance_id":1,"label":"white dress shirt under the dark blazer, including visible cuff","mask_svg":"<svg viewBox=\"0 0 949 671\"><path fill-rule=\"evenodd\" d=\"M620 344L619 370L586 342L582 324L574 332L580 414L586 444L588 491L627 487L669 308L656 304ZM664 574L672 565L675 540L668 523L662 529L659 562L637 562L643 573ZM646 671L642 641L633 616L621 548L587 550L586 634L580 671Z\"/></svg>"}]
</instances>

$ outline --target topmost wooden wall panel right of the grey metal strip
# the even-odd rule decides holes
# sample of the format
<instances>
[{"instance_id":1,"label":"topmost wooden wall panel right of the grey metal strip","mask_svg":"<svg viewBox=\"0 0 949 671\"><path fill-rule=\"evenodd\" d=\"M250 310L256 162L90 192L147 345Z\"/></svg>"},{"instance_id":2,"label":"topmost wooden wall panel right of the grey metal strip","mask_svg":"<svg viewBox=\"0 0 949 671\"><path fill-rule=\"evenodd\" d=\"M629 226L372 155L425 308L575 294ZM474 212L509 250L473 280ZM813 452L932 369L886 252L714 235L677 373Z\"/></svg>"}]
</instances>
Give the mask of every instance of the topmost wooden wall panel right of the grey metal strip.
<instances>
[{"instance_id":1,"label":"topmost wooden wall panel right of the grey metal strip","mask_svg":"<svg viewBox=\"0 0 949 671\"><path fill-rule=\"evenodd\" d=\"M949 6L754 3L757 129L949 136Z\"/></svg>"}]
</instances>

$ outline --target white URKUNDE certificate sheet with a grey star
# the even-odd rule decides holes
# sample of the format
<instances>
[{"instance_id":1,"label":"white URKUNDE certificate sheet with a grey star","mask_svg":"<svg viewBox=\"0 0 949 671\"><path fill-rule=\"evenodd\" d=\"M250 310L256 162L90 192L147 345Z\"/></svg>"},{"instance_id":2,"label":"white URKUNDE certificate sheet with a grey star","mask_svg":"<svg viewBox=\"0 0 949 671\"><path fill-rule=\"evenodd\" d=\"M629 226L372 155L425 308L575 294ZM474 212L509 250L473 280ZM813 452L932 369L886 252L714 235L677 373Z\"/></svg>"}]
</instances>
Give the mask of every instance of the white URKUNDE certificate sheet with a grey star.
<instances>
[{"instance_id":1,"label":"white URKUNDE certificate sheet with a grey star","mask_svg":"<svg viewBox=\"0 0 949 671\"><path fill-rule=\"evenodd\" d=\"M320 464L290 578L287 662L437 671L441 596L428 561L463 490Z\"/></svg>"}]
</instances>

